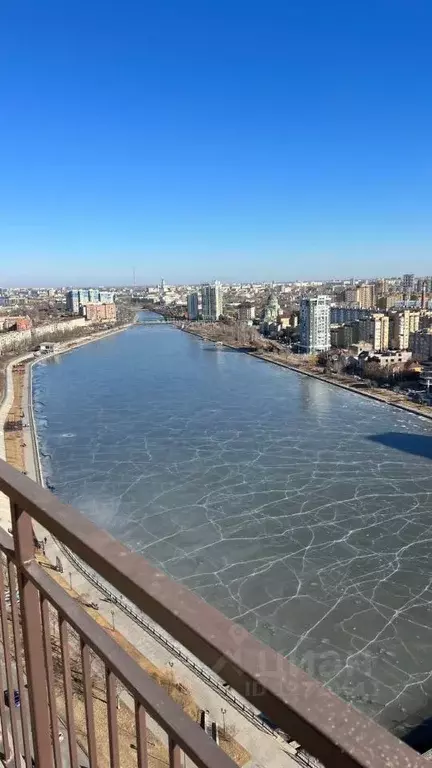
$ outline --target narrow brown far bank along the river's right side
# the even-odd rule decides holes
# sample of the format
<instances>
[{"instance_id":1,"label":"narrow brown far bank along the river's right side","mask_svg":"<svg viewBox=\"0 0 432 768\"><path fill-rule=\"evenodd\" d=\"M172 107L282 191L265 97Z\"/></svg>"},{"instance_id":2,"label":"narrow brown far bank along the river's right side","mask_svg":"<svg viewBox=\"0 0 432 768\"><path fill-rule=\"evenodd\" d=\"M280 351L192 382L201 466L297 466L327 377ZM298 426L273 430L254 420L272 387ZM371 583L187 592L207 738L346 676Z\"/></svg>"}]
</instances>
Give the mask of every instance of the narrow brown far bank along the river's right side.
<instances>
[{"instance_id":1,"label":"narrow brown far bank along the river's right side","mask_svg":"<svg viewBox=\"0 0 432 768\"><path fill-rule=\"evenodd\" d=\"M257 360L262 360L267 363L272 363L273 365L277 365L280 368L287 368L289 371L295 371L295 373L300 373L302 376L308 376L311 379L317 379L318 381L324 382L325 384L331 384L334 387L339 387L340 389L344 389L347 392L352 392L356 395L362 395L362 397L367 397L369 400L375 400L376 402L383 403L385 405L390 405L393 408L397 408L402 411L408 411L409 413L414 414L415 416L422 416L425 419L432 420L432 408L427 405L420 405L417 403L412 403L409 401L406 397L403 395L400 395L396 392L393 392L392 390L385 390L385 391L379 391L376 390L371 391L370 389L367 389L364 386L361 386L361 382L358 380L350 380L352 377L343 376L342 374L326 374L319 370L310 370L306 367L306 364L303 365L295 365L292 361L287 362L286 359L283 359L284 353L281 352L278 354L277 352L257 352L254 349L248 349L247 347L242 346L241 344L230 344L226 341L221 341L220 339L217 340L217 342L208 336L206 336L203 333L200 333L198 330L190 329L188 327L181 328L180 330L185 331L186 333L191 334L192 336L197 336L200 339L203 339L203 341L210 341L212 343L218 343L222 344L224 347L228 347L228 349L232 349L235 352L241 352L243 354L250 355L251 357L254 357Z\"/></svg>"}]
</instances>

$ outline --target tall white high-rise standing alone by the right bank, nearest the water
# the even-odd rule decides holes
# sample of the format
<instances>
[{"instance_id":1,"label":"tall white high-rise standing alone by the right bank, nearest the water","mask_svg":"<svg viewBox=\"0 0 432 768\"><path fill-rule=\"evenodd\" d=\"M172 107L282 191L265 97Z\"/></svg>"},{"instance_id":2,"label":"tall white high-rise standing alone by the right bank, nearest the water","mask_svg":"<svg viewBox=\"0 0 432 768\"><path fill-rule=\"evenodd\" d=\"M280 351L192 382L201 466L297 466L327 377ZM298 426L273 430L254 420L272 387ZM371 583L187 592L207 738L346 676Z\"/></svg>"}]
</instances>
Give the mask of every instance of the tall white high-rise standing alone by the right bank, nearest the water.
<instances>
[{"instance_id":1,"label":"tall white high-rise standing alone by the right bank, nearest the water","mask_svg":"<svg viewBox=\"0 0 432 768\"><path fill-rule=\"evenodd\" d=\"M304 354L330 349L330 301L321 294L300 302L300 351Z\"/></svg>"}]
</instances>

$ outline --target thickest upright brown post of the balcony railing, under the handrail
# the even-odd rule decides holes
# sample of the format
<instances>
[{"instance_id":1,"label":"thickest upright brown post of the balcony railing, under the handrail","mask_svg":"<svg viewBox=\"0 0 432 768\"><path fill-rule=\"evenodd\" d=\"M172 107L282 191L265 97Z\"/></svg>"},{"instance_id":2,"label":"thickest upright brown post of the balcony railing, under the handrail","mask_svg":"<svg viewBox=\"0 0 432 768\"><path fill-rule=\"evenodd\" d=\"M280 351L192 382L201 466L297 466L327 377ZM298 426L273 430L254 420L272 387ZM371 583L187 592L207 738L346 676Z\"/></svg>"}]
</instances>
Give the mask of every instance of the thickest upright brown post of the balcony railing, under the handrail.
<instances>
[{"instance_id":1,"label":"thickest upright brown post of the balcony railing, under the handrail","mask_svg":"<svg viewBox=\"0 0 432 768\"><path fill-rule=\"evenodd\" d=\"M35 559L33 526L30 515L14 502L11 502L11 520L21 597L21 621L35 761L38 768L39 766L53 768L39 594L21 569L21 566Z\"/></svg>"}]
</instances>

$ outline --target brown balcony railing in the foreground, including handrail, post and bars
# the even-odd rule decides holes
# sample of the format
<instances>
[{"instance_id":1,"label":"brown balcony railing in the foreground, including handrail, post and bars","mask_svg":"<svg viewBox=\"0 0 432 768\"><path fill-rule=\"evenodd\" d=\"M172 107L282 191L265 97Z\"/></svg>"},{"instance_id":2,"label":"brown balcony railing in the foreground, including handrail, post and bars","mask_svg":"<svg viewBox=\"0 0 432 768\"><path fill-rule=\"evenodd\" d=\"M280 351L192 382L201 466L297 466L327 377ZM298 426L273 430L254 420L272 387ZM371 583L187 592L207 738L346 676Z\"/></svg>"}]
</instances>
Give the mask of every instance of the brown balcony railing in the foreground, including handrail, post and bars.
<instances>
[{"instance_id":1,"label":"brown balcony railing in the foreground, including handrail, post and bars","mask_svg":"<svg viewBox=\"0 0 432 768\"><path fill-rule=\"evenodd\" d=\"M170 768L179 768L185 754L188 762L199 768L232 768L232 761L115 642L111 633L102 629L35 561L31 520L22 507L61 542L65 554L67 548L71 548L74 557L81 558L86 564L85 568L91 569L92 573L96 571L101 579L112 585L113 594L121 593L138 611L145 611L146 616L174 639L173 642L183 644L226 684L271 717L278 727L298 739L303 748L310 750L322 764L334 768L384 768L389 765L423 768L426 764L423 756L2 460L0 490L15 500L11 506L15 552L10 536L1 530L0 549L8 560L16 562L17 567L24 642L20 639L12 580L14 637L18 644L16 663L19 672L19 663L23 664L21 649L24 648L31 705L31 721L27 718L27 726L31 727L35 741L37 768L53 766L39 592L67 621L62 631L62 655L71 749L76 751L66 626L77 632L110 670L106 675L112 765L118 765L119 739L114 711L116 680L139 702L147 717L169 735ZM84 565L82 568L85 570ZM93 579L93 576L90 574L89 578ZM117 602L116 595L114 599ZM0 662L0 719L7 749L9 716L1 695L3 658ZM13 652L12 670L15 674ZM210 679L207 673L206 677ZM22 702L26 699L23 696ZM139 711L137 719L141 722ZM141 727L138 731L141 751L143 730ZM10 757L9 751L9 762ZM310 762L312 765L312 758ZM71 765L77 765L76 759L72 758Z\"/></svg>"}]
</instances>

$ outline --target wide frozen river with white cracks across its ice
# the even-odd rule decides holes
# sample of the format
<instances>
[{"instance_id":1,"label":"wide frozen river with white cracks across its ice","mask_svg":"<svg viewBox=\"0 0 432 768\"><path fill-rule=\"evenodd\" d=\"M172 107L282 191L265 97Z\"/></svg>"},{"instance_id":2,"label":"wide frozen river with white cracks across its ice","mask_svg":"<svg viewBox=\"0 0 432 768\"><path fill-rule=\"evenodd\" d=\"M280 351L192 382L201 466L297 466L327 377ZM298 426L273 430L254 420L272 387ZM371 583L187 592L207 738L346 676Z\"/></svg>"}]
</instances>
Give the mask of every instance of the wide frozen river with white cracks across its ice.
<instances>
[{"instance_id":1,"label":"wide frozen river with white cracks across its ice","mask_svg":"<svg viewBox=\"0 0 432 768\"><path fill-rule=\"evenodd\" d=\"M430 714L432 422L171 327L33 386L64 501L388 728Z\"/></svg>"}]
</instances>

